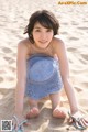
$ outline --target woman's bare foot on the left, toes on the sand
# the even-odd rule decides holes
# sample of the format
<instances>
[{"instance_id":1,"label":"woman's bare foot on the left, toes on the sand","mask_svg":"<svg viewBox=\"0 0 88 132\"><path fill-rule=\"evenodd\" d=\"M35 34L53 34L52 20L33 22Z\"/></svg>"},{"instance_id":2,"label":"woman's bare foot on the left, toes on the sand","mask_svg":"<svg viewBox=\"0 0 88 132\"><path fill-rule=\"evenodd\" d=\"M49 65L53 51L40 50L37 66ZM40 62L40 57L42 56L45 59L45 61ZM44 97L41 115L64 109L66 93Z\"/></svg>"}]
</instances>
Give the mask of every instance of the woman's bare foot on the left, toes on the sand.
<instances>
[{"instance_id":1,"label":"woman's bare foot on the left, toes on the sand","mask_svg":"<svg viewBox=\"0 0 88 132\"><path fill-rule=\"evenodd\" d=\"M40 114L40 110L36 107L33 107L25 116L26 119L36 118Z\"/></svg>"}]
</instances>

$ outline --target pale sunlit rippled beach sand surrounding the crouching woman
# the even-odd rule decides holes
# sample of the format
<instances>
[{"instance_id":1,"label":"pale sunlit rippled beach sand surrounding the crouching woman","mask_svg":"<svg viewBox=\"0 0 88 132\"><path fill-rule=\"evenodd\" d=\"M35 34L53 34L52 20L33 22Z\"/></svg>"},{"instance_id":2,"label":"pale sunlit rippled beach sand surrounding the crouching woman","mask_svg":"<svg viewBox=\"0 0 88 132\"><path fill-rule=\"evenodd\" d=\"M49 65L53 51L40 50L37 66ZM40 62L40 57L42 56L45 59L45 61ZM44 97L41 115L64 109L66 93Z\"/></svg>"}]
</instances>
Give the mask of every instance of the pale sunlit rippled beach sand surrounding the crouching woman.
<instances>
[{"instance_id":1,"label":"pale sunlit rippled beach sand surrounding the crouching woman","mask_svg":"<svg viewBox=\"0 0 88 132\"><path fill-rule=\"evenodd\" d=\"M23 32L30 15L38 9L52 11L59 21L61 29L57 37L66 44L70 79L79 109L88 116L88 1L84 1L82 4L59 4L59 0L0 0L0 120L9 120L14 113L16 46L22 38L26 37ZM62 103L69 109L64 91ZM88 132L88 130L79 131L69 127L67 119L53 118L51 108L48 99L42 100L40 117L30 119L31 125L25 127L24 131ZM28 110L29 105L25 98L24 113Z\"/></svg>"}]
</instances>

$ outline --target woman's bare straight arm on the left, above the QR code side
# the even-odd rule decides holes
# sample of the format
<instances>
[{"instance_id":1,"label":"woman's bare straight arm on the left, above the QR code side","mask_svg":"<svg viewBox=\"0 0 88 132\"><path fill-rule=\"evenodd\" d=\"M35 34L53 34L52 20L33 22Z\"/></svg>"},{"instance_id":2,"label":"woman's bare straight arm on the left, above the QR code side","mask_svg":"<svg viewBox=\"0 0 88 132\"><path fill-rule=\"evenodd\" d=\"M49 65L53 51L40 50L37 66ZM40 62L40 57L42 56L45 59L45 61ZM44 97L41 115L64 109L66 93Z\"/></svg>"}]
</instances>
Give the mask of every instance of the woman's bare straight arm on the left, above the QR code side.
<instances>
[{"instance_id":1,"label":"woman's bare straight arm on the left, above the QR code side","mask_svg":"<svg viewBox=\"0 0 88 132\"><path fill-rule=\"evenodd\" d=\"M16 89L15 89L15 114L18 117L21 117L23 112L23 97L26 79L26 55L28 47L23 42L19 43L16 57Z\"/></svg>"}]
</instances>

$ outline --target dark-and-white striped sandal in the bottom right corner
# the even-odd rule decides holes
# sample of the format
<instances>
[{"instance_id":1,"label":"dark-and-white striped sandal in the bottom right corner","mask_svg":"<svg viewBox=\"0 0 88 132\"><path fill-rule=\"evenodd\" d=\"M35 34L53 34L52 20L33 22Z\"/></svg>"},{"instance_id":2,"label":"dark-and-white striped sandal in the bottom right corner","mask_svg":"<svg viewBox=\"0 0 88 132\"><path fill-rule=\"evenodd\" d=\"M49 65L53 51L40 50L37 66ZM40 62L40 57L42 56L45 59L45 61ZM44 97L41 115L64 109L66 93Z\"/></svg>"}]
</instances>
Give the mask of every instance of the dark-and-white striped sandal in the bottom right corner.
<instances>
[{"instance_id":1,"label":"dark-and-white striped sandal in the bottom right corner","mask_svg":"<svg viewBox=\"0 0 88 132\"><path fill-rule=\"evenodd\" d=\"M80 112L76 112L75 114L69 114L69 123L73 124L78 130L85 130L88 128L88 121L80 114Z\"/></svg>"}]
</instances>

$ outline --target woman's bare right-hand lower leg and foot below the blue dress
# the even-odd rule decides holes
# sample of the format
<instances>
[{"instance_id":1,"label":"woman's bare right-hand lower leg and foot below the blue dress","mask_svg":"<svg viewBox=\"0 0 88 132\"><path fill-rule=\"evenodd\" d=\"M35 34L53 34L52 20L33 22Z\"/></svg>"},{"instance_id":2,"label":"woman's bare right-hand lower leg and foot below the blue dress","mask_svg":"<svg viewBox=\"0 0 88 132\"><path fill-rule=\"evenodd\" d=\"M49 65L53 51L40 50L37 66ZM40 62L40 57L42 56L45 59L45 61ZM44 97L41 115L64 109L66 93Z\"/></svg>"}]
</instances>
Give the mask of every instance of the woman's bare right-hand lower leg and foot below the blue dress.
<instances>
[{"instance_id":1,"label":"woman's bare right-hand lower leg and foot below the blue dress","mask_svg":"<svg viewBox=\"0 0 88 132\"><path fill-rule=\"evenodd\" d=\"M61 107L61 92L50 95L52 101L53 117L66 118L66 109Z\"/></svg>"}]
</instances>

